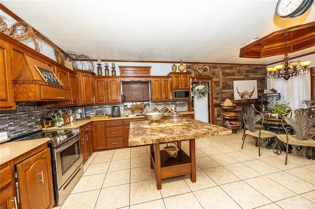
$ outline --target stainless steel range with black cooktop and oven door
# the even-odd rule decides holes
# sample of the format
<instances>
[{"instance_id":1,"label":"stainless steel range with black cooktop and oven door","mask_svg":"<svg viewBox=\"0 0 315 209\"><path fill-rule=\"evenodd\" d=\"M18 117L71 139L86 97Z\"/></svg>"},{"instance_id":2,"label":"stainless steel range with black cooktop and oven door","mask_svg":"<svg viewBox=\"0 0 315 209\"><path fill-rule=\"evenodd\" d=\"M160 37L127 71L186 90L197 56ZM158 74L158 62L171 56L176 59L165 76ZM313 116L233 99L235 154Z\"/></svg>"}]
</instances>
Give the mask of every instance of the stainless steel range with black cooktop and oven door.
<instances>
[{"instance_id":1,"label":"stainless steel range with black cooktop and oven door","mask_svg":"<svg viewBox=\"0 0 315 209\"><path fill-rule=\"evenodd\" d=\"M23 141L49 137L54 179L55 206L63 203L83 175L83 157L80 154L80 129L36 131L12 138Z\"/></svg>"}]
</instances>

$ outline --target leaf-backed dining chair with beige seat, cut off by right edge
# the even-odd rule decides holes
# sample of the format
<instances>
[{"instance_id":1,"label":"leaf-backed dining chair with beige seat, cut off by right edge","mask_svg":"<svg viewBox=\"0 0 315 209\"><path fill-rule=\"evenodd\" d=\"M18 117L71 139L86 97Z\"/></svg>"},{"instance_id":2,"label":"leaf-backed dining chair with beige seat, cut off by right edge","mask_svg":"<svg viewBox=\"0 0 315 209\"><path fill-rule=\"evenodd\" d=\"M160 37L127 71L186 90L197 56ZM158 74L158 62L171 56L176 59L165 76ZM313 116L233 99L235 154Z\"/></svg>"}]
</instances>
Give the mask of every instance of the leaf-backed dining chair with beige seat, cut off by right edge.
<instances>
[{"instance_id":1,"label":"leaf-backed dining chair with beige seat, cut off by right edge","mask_svg":"<svg viewBox=\"0 0 315 209\"><path fill-rule=\"evenodd\" d=\"M305 156L308 159L315 158L315 132L312 131L315 126L315 117L310 114L308 109L296 109L284 114L282 126L285 134L277 134L277 138L285 146L285 165L287 163L289 145L305 146L307 147ZM309 156L310 148L313 149L313 156Z\"/></svg>"}]
</instances>

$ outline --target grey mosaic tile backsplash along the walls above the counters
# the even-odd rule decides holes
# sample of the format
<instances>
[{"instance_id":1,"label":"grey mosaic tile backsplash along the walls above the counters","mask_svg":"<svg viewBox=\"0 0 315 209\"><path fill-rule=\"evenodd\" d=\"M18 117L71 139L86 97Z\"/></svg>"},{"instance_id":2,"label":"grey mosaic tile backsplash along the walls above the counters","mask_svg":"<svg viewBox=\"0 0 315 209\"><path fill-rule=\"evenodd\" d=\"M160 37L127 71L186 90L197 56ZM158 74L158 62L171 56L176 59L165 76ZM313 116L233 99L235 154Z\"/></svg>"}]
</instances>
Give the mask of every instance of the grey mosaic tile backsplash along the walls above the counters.
<instances>
[{"instance_id":1,"label":"grey mosaic tile backsplash along the walls above the counters","mask_svg":"<svg viewBox=\"0 0 315 209\"><path fill-rule=\"evenodd\" d=\"M112 104L112 105L92 105L84 106L86 117L94 115L98 109L105 109L106 113L111 113L111 107L113 105L120 106L123 110L123 104ZM150 106L161 106L161 105L177 105L185 106L186 102L177 103L151 103ZM82 107L82 106L81 106ZM71 107L70 107L71 108ZM72 110L79 108L79 106L72 107ZM16 103L15 110L3 110L0 111L0 132L7 132L9 138L19 136L32 131L37 131L38 126L42 125L41 119L47 115L48 111L55 111L66 108L43 108L37 107L35 102L19 102Z\"/></svg>"}]
</instances>

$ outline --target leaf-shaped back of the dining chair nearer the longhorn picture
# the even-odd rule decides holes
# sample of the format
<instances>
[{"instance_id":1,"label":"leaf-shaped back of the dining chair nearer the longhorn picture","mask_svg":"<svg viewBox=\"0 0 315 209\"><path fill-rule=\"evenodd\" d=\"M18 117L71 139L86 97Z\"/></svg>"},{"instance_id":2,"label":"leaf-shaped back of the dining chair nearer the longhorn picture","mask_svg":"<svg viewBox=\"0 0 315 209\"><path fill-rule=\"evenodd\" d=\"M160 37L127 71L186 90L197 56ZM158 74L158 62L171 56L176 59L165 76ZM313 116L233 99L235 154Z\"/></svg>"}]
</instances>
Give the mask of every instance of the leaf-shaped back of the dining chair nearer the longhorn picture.
<instances>
[{"instance_id":1,"label":"leaf-shaped back of the dining chair nearer the longhorn picture","mask_svg":"<svg viewBox=\"0 0 315 209\"><path fill-rule=\"evenodd\" d=\"M244 129L248 129L250 131L255 131L257 127L259 130L261 129L261 126L264 122L263 121L264 118L261 112L259 112L252 106L245 105L242 108L242 114L243 114ZM259 121L261 123L258 123Z\"/></svg>"}]
</instances>

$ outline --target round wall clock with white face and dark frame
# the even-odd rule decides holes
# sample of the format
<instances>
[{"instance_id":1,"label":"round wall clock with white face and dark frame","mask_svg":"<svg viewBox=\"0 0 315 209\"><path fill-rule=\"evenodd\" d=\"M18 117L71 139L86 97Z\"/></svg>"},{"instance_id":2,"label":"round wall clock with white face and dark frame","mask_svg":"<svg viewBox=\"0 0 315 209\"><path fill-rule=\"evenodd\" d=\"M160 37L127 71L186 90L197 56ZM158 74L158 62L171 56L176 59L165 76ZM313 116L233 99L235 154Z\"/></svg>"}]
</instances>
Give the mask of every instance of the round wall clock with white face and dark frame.
<instances>
[{"instance_id":1,"label":"round wall clock with white face and dark frame","mask_svg":"<svg viewBox=\"0 0 315 209\"><path fill-rule=\"evenodd\" d=\"M276 14L279 17L295 18L304 14L314 0L278 0Z\"/></svg>"}]
</instances>

